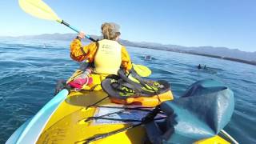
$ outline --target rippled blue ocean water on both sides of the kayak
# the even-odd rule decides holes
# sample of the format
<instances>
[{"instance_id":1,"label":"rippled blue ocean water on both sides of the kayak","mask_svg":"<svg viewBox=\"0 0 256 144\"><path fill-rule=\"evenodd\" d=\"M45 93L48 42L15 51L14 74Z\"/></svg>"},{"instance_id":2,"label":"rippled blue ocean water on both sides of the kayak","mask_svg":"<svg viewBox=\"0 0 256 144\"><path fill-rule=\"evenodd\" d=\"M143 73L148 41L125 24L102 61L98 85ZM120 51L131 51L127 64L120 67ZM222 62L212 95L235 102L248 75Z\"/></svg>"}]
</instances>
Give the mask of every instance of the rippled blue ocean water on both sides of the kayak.
<instances>
[{"instance_id":1,"label":"rippled blue ocean water on both sides of the kayak","mask_svg":"<svg viewBox=\"0 0 256 144\"><path fill-rule=\"evenodd\" d=\"M0 143L54 97L55 84L78 68L70 42L0 39ZM235 110L225 127L241 143L256 143L256 66L217 58L127 47L134 63L150 67L152 79L171 83L178 98L192 83L214 78L235 96ZM150 55L152 60L145 60ZM198 64L209 67L198 70Z\"/></svg>"}]
</instances>

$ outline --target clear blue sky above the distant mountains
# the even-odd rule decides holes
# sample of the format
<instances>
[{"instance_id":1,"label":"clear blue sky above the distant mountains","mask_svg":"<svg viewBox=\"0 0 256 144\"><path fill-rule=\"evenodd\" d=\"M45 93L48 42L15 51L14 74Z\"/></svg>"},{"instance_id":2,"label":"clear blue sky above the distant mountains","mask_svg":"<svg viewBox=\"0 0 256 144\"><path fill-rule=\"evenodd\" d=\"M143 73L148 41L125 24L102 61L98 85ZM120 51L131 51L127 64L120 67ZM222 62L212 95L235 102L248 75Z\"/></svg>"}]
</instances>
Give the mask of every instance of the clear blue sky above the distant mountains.
<instances>
[{"instance_id":1,"label":"clear blue sky above the distant mountains","mask_svg":"<svg viewBox=\"0 0 256 144\"><path fill-rule=\"evenodd\" d=\"M122 38L181 46L226 46L256 51L255 0L45 0L60 18L87 34L117 22ZM1 0L0 35L72 33L33 18L18 0Z\"/></svg>"}]
</instances>

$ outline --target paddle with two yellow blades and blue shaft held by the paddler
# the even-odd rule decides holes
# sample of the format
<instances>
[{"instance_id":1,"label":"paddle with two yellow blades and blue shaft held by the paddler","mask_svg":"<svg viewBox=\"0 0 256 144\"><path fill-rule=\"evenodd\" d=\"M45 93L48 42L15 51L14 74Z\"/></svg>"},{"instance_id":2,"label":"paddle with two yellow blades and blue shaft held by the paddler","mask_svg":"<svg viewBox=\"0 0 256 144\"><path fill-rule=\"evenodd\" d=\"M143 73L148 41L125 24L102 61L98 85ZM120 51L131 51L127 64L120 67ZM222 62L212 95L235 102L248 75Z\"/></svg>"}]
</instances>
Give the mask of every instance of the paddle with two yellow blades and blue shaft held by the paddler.
<instances>
[{"instance_id":1,"label":"paddle with two yellow blades and blue shaft held by the paddler","mask_svg":"<svg viewBox=\"0 0 256 144\"><path fill-rule=\"evenodd\" d=\"M27 14L33 15L36 18L59 22L77 33L80 32L80 30L74 26L70 26L69 23L63 21L61 18L58 18L58 15L55 14L54 10L52 10L45 2L42 2L42 0L18 0L18 3L22 10L24 10ZM90 38L88 34L85 36L91 41L96 42L96 40L94 38ZM133 66L134 70L142 77L148 77L151 74L151 70L146 66Z\"/></svg>"}]
</instances>

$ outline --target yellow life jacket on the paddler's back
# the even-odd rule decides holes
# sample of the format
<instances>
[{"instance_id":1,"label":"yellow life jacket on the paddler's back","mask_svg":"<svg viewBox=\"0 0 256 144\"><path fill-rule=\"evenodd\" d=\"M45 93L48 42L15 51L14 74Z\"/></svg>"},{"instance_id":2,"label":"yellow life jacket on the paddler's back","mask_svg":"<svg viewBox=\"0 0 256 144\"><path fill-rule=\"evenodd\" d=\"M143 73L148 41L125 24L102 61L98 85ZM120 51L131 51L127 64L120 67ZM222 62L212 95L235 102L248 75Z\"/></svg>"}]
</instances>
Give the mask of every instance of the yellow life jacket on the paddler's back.
<instances>
[{"instance_id":1,"label":"yellow life jacket on the paddler's back","mask_svg":"<svg viewBox=\"0 0 256 144\"><path fill-rule=\"evenodd\" d=\"M107 39L98 41L98 50L94 56L94 73L117 74L121 63L122 45Z\"/></svg>"}]
</instances>

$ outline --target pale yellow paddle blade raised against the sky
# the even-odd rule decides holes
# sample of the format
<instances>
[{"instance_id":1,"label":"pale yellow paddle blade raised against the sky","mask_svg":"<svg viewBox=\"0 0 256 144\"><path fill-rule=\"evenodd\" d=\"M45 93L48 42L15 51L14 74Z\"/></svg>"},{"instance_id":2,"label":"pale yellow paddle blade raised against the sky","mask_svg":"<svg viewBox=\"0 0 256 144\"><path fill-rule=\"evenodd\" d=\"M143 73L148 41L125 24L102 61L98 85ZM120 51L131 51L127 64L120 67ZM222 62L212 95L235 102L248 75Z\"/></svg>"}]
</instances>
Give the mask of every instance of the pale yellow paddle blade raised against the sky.
<instances>
[{"instance_id":1,"label":"pale yellow paddle blade raised against the sky","mask_svg":"<svg viewBox=\"0 0 256 144\"><path fill-rule=\"evenodd\" d=\"M22 10L36 18L61 21L58 15L54 13L54 10L51 10L50 6L46 5L42 0L18 0L18 3Z\"/></svg>"}]
</instances>

